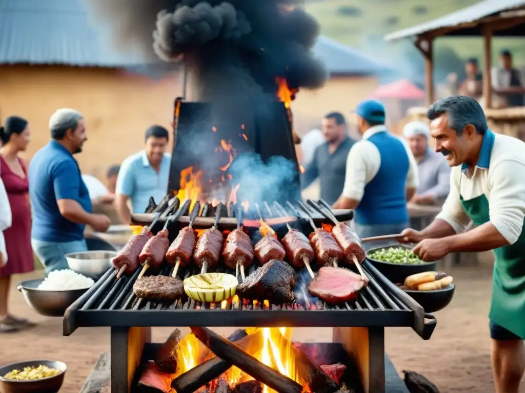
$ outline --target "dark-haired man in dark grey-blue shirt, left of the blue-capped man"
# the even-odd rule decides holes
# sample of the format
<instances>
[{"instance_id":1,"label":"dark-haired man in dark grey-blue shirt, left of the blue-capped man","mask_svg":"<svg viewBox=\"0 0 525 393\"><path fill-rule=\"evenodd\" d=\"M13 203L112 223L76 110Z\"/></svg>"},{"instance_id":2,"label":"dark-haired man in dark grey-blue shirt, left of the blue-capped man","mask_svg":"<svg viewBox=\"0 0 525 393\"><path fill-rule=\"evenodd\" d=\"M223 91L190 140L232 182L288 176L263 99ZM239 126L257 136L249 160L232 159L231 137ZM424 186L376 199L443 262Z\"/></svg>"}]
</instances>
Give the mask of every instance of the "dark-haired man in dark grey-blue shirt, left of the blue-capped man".
<instances>
[{"instance_id":1,"label":"dark-haired man in dark grey-blue shirt, left of the blue-capped man","mask_svg":"<svg viewBox=\"0 0 525 393\"><path fill-rule=\"evenodd\" d=\"M346 157L355 141L348 136L346 121L339 112L324 116L322 130L325 143L316 148L312 160L306 165L301 188L306 189L319 178L321 198L332 204L343 190Z\"/></svg>"}]
</instances>

